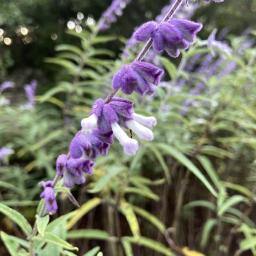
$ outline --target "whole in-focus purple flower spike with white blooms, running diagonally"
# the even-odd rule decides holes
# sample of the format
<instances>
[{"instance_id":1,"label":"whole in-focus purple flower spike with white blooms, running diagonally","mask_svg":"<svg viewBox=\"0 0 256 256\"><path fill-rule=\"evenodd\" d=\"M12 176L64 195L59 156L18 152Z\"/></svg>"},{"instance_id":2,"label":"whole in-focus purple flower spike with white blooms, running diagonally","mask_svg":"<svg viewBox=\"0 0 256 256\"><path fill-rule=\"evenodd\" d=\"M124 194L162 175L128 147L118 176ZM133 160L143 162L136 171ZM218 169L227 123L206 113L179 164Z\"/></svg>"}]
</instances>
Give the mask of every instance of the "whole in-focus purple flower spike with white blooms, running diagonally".
<instances>
[{"instance_id":1,"label":"whole in-focus purple flower spike with white blooms, running diagonally","mask_svg":"<svg viewBox=\"0 0 256 256\"><path fill-rule=\"evenodd\" d=\"M113 6L114 2L121 1L113 1ZM157 53L166 51L170 56L178 57L181 50L187 49L193 43L201 28L201 24L184 19L160 23L150 21L137 29L135 38L143 42L151 39ZM63 178L65 187L72 188L76 184L85 183L85 176L93 173L95 159L108 153L114 138L123 147L124 154L135 155L139 143L127 135L126 129L132 131L140 140L154 139L151 129L157 124L155 117L136 113L130 100L115 96L118 90L126 95L134 92L140 96L154 93L164 71L141 59L142 57L138 57L132 63L124 65L113 76L111 94L106 99L95 101L90 116L81 121L81 129L72 139L69 153L61 154L57 158L57 177ZM47 209L54 213L57 207L53 183L47 182L43 187L41 196Z\"/></svg>"}]
</instances>

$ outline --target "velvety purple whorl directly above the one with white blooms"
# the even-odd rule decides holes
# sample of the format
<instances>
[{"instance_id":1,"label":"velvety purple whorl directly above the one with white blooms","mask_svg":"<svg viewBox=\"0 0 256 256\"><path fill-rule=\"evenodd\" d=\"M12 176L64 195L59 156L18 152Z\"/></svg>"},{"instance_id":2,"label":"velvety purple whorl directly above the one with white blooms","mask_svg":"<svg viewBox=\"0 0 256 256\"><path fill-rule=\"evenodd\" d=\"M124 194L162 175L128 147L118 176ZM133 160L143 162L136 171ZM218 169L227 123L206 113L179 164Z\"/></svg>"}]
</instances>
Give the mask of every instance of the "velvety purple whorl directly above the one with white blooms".
<instances>
[{"instance_id":1,"label":"velvety purple whorl directly above the one with white blooms","mask_svg":"<svg viewBox=\"0 0 256 256\"><path fill-rule=\"evenodd\" d=\"M155 86L159 84L163 74L164 71L153 64L134 61L124 65L115 74L112 86L115 90L121 88L125 94L135 91L140 95L150 95L154 92Z\"/></svg>"}]
</instances>

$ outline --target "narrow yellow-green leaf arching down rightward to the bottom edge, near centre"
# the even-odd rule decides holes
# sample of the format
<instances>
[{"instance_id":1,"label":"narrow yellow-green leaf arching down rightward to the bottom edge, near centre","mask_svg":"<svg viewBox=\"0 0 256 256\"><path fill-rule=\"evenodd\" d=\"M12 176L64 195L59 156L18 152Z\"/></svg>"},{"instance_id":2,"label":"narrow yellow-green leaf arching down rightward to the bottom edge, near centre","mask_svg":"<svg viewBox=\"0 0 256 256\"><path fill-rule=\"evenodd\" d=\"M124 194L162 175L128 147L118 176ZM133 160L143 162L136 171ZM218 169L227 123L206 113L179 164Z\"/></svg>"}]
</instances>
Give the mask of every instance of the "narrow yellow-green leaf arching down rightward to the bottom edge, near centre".
<instances>
[{"instance_id":1,"label":"narrow yellow-green leaf arching down rightward to the bottom edge, near centre","mask_svg":"<svg viewBox=\"0 0 256 256\"><path fill-rule=\"evenodd\" d=\"M141 245L144 247L147 247L153 251L156 251L160 254L166 255L166 256L175 256L173 252L167 247L165 247L163 244L157 242L156 240L152 240L147 237L124 237L125 240L127 240L130 243Z\"/></svg>"}]
</instances>

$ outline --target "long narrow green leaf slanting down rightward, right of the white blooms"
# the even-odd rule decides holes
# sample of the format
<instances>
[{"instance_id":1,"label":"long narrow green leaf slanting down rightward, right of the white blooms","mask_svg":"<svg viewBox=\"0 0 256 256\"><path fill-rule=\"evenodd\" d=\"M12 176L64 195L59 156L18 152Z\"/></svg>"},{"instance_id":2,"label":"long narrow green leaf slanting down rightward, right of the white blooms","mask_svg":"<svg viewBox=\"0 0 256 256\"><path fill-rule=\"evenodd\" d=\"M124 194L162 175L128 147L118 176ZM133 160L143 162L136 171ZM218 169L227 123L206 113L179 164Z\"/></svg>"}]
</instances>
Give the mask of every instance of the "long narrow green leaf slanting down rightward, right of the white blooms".
<instances>
[{"instance_id":1,"label":"long narrow green leaf slanting down rightward, right of the white blooms","mask_svg":"<svg viewBox=\"0 0 256 256\"><path fill-rule=\"evenodd\" d=\"M179 161L185 167L187 167L187 169L191 171L205 185L205 187L211 192L211 194L217 197L217 192L212 187L210 182L205 178L202 172L184 154L182 154L177 149L162 143L157 144L157 146L160 149L162 149L164 152L170 154L172 157L174 157L177 161Z\"/></svg>"}]
</instances>

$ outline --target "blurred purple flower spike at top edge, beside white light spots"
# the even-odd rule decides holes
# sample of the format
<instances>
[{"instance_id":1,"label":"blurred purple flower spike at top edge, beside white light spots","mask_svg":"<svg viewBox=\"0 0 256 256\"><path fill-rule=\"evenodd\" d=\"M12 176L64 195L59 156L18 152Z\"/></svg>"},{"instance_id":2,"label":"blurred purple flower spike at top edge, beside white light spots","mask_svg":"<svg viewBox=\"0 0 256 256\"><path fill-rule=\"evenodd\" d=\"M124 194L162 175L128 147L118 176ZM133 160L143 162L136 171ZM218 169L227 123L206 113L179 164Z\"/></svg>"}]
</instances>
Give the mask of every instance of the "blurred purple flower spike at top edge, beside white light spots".
<instances>
[{"instance_id":1,"label":"blurred purple flower spike at top edge, beside white light spots","mask_svg":"<svg viewBox=\"0 0 256 256\"><path fill-rule=\"evenodd\" d=\"M107 30L112 23L116 22L117 16L122 16L123 9L130 3L130 1L131 0L113 0L99 20L99 30Z\"/></svg>"}]
</instances>

